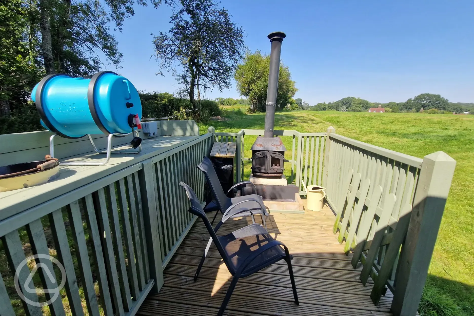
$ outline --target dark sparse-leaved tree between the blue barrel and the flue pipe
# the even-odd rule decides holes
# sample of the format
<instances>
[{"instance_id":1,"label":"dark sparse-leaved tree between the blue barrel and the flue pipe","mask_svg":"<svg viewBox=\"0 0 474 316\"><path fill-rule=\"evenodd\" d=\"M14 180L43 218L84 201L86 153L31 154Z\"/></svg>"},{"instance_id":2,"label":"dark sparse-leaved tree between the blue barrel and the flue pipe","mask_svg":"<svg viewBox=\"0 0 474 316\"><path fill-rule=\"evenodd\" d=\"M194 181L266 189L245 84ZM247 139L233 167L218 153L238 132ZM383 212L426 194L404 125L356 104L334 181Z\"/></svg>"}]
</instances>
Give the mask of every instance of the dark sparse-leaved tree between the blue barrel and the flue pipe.
<instances>
[{"instance_id":1,"label":"dark sparse-leaved tree between the blue barrel and the flue pipe","mask_svg":"<svg viewBox=\"0 0 474 316\"><path fill-rule=\"evenodd\" d=\"M172 72L188 87L193 108L201 90L230 88L230 78L243 57L244 30L230 20L228 11L212 0L180 0L171 16L173 27L155 36L156 59L161 70ZM178 71L175 64L182 67ZM197 94L197 101L194 94Z\"/></svg>"}]
</instances>

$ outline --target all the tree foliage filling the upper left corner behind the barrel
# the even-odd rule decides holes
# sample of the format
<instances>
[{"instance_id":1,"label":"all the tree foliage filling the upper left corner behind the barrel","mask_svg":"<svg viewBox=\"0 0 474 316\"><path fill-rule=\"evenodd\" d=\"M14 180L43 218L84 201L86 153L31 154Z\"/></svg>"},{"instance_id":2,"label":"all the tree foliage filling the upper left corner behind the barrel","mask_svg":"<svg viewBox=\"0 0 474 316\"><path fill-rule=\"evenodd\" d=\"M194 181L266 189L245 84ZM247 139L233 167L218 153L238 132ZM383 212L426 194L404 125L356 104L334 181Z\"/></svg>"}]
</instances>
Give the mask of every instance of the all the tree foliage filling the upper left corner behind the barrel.
<instances>
[{"instance_id":1,"label":"all the tree foliage filling the upper left corner behind the barrel","mask_svg":"<svg viewBox=\"0 0 474 316\"><path fill-rule=\"evenodd\" d=\"M137 3L147 5L146 0ZM150 3L156 8L162 0ZM118 67L122 54L110 27L121 30L124 20L134 14L134 4L134 0L2 1L0 117L7 117L2 124L9 125L10 116L19 116L11 124L23 117L30 126L31 117L26 115L39 121L29 95L45 74L82 76L99 71L105 63Z\"/></svg>"}]
</instances>

